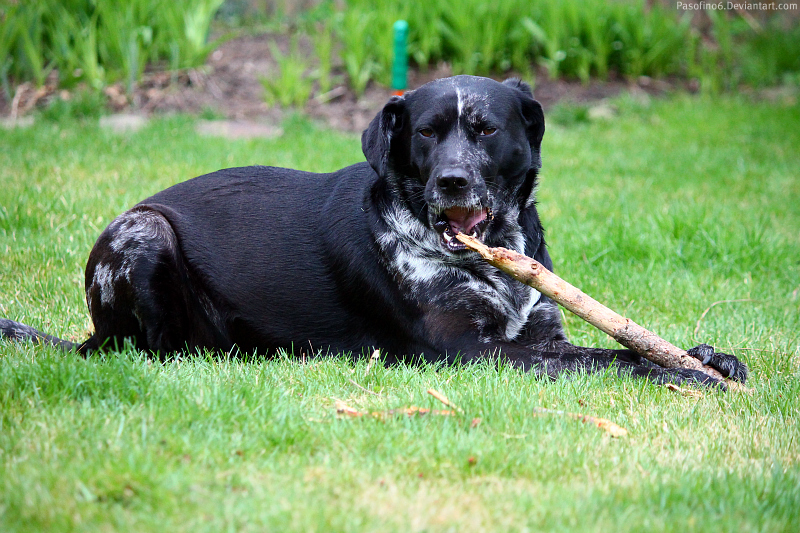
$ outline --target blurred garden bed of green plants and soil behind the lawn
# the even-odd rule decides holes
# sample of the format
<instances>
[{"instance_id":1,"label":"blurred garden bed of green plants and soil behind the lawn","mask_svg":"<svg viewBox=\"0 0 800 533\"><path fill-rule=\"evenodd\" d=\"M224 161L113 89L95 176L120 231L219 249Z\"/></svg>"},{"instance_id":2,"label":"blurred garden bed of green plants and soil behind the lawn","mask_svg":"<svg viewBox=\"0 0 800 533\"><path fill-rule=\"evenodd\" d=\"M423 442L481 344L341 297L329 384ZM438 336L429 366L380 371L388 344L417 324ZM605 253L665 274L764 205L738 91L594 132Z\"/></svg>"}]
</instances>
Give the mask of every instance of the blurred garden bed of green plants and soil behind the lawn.
<instances>
[{"instance_id":1,"label":"blurred garden bed of green plants and soil behind the lawn","mask_svg":"<svg viewBox=\"0 0 800 533\"><path fill-rule=\"evenodd\" d=\"M749 7L3 0L0 113L177 111L280 120L279 109L294 108L360 130L390 94L399 19L409 23L410 88L451 74L513 75L532 83L546 108L631 90L791 98L800 85L800 10L796 3Z\"/></svg>"}]
</instances>

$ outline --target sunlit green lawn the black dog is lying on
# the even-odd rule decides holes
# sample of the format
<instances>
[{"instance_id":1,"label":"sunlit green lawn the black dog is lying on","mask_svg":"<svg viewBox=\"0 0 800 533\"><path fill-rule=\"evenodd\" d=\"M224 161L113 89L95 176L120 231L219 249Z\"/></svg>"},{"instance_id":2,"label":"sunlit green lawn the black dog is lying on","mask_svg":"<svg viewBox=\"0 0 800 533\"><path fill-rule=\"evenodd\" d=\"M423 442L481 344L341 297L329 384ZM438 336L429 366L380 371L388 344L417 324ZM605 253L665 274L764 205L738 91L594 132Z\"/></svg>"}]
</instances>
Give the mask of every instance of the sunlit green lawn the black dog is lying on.
<instances>
[{"instance_id":1,"label":"sunlit green lawn the black dog is lying on","mask_svg":"<svg viewBox=\"0 0 800 533\"><path fill-rule=\"evenodd\" d=\"M539 206L556 270L675 344L735 353L752 394L0 342L0 530L799 531L800 106L616 105L548 126ZM221 167L363 159L358 136L300 118L273 140L192 131L183 117L126 135L0 130L0 316L83 339L83 266L124 209ZM613 346L565 320L573 342ZM337 399L441 408L428 388L463 415L336 415Z\"/></svg>"}]
</instances>

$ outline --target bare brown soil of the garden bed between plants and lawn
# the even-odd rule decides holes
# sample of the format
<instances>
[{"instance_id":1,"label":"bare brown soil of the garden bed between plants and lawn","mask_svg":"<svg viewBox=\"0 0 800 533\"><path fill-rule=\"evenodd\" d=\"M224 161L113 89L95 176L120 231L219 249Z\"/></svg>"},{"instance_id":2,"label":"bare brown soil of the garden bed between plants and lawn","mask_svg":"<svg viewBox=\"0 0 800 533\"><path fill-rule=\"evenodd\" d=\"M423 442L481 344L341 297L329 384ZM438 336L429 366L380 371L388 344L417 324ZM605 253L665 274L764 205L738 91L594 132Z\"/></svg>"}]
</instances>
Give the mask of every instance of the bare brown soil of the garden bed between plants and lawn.
<instances>
[{"instance_id":1,"label":"bare brown soil of the garden bed between plants and lawn","mask_svg":"<svg viewBox=\"0 0 800 533\"><path fill-rule=\"evenodd\" d=\"M226 41L212 52L202 68L177 73L153 69L145 73L130 95L122 84L106 87L104 92L108 104L116 113L142 116L154 113L190 113L206 118L233 120L230 128L226 126L218 131L220 134L274 135L274 128L281 123L287 111L270 107L264 100L261 79L276 76L279 72L270 51L270 43L273 41L279 48L288 49L288 37L283 34L237 37ZM409 88L413 89L432 79L451 74L452 71L446 64L425 71L411 71ZM0 96L0 114L17 119L37 107L48 105L55 98L71 98L71 93L59 90L55 82L56 78L53 76L44 87L22 84L16 88L10 101L4 95ZM582 84L550 80L541 73L537 76L534 92L537 100L547 109L564 101L591 105L624 91L660 94L676 88L686 87L681 86L680 82L649 78L638 80L637 83L593 80ZM390 89L375 84L371 84L360 98L349 88L339 86L326 95L327 101L312 99L306 104L304 111L333 128L360 132L367 127L390 96ZM259 127L251 125L253 122L269 124L273 129L261 131ZM252 131L248 133L248 129Z\"/></svg>"}]
</instances>

